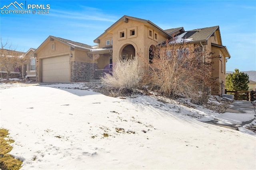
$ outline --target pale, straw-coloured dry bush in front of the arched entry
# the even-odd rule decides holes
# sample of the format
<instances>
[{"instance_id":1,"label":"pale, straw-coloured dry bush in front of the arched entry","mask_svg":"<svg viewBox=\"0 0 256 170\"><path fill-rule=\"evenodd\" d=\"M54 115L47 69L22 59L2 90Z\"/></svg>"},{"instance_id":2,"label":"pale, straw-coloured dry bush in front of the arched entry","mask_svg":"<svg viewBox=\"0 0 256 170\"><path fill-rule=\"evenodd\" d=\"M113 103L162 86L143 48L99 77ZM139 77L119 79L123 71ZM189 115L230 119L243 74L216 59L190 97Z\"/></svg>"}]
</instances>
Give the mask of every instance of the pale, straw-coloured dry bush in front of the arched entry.
<instances>
[{"instance_id":1,"label":"pale, straw-coloured dry bush in front of the arched entry","mask_svg":"<svg viewBox=\"0 0 256 170\"><path fill-rule=\"evenodd\" d=\"M135 92L142 76L138 57L128 60L118 60L112 74L105 74L102 83L111 90L112 96L118 96L122 92Z\"/></svg>"}]
</instances>

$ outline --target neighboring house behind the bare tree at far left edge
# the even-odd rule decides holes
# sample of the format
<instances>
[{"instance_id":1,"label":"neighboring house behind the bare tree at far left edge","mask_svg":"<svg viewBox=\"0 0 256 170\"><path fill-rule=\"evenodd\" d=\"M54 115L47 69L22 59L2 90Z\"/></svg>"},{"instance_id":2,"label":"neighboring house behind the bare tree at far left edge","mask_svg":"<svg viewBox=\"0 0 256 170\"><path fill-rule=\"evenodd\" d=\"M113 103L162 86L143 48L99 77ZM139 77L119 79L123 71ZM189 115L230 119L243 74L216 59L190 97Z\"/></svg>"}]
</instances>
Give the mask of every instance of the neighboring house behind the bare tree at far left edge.
<instances>
[{"instance_id":1,"label":"neighboring house behind the bare tree at far left edge","mask_svg":"<svg viewBox=\"0 0 256 170\"><path fill-rule=\"evenodd\" d=\"M0 57L23 57L25 54L21 51L14 51L9 49L0 49ZM26 65L14 66L11 59L2 60L0 59L0 78L7 78L7 68L9 70L9 78L22 78L23 75L26 75Z\"/></svg>"}]
</instances>

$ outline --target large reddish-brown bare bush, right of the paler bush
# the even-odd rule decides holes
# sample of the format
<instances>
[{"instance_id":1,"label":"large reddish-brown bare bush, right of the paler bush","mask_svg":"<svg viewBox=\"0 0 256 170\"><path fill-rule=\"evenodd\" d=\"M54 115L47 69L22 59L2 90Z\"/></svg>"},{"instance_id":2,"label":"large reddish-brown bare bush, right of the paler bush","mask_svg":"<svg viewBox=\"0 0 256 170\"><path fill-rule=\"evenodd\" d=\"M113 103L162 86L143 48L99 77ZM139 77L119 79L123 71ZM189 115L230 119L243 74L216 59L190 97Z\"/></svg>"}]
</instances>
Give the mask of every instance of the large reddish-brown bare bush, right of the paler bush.
<instances>
[{"instance_id":1,"label":"large reddish-brown bare bush, right of the paler bush","mask_svg":"<svg viewBox=\"0 0 256 170\"><path fill-rule=\"evenodd\" d=\"M182 94L193 103L208 101L209 87L217 84L212 78L212 54L198 50L200 46L186 42L166 41L154 50L152 61L145 61L143 84L166 96Z\"/></svg>"}]
</instances>

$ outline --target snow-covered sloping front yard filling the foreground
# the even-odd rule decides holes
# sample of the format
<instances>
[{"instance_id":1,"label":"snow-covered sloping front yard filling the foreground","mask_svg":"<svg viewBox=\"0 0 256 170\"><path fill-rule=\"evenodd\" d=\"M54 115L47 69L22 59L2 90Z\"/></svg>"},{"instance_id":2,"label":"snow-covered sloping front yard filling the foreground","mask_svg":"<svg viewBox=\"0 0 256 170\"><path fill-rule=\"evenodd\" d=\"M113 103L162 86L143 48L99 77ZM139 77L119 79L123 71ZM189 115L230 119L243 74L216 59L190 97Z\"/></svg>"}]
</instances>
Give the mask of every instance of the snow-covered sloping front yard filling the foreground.
<instances>
[{"instance_id":1,"label":"snow-covered sloping front yard filling the foreground","mask_svg":"<svg viewBox=\"0 0 256 170\"><path fill-rule=\"evenodd\" d=\"M0 123L24 170L256 169L255 134L200 122L249 115L159 100L111 98L82 83L0 83Z\"/></svg>"}]
</instances>

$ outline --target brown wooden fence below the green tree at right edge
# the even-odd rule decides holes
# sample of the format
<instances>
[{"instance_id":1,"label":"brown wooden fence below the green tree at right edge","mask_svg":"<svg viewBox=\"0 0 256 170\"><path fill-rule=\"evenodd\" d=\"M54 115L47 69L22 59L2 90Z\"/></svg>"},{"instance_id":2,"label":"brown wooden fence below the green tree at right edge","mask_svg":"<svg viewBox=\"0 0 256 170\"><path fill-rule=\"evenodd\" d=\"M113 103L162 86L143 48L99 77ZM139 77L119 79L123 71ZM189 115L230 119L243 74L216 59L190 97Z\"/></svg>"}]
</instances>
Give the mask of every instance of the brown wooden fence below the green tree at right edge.
<instances>
[{"instance_id":1,"label":"brown wooden fence below the green tree at right edge","mask_svg":"<svg viewBox=\"0 0 256 170\"><path fill-rule=\"evenodd\" d=\"M247 100L247 101L256 100L255 91L228 91L225 89L225 94L233 94L234 100Z\"/></svg>"}]
</instances>

